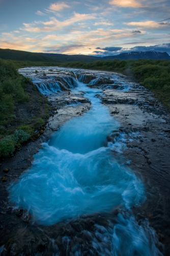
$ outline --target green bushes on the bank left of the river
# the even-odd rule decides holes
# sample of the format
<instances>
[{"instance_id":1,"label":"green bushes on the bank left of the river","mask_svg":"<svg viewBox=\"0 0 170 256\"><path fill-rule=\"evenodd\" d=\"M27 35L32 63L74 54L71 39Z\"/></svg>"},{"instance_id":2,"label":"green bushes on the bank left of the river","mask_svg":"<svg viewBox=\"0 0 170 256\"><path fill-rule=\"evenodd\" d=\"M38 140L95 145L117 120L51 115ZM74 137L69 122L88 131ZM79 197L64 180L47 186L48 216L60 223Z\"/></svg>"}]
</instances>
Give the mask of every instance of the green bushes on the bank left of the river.
<instances>
[{"instance_id":1,"label":"green bushes on the bank left of the river","mask_svg":"<svg viewBox=\"0 0 170 256\"><path fill-rule=\"evenodd\" d=\"M40 109L36 107L34 113L38 117L35 115L31 119L24 119L22 114L16 116L15 112L20 107L25 106L28 110L29 107L35 108L37 101ZM0 157L13 153L22 142L40 136L34 131L42 130L45 121L40 116L47 116L48 108L47 99L37 92L30 79L18 73L15 62L0 59Z\"/></svg>"}]
</instances>

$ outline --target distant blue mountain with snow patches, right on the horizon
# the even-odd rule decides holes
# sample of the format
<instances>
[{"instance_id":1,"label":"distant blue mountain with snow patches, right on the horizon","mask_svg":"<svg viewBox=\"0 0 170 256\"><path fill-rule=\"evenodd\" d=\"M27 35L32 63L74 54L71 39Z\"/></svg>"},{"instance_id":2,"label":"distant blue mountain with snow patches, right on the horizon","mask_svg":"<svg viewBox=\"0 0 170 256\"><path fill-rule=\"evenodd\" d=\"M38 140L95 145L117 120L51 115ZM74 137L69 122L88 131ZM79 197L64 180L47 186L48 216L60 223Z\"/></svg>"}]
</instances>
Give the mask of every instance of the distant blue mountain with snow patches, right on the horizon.
<instances>
[{"instance_id":1,"label":"distant blue mountain with snow patches, right on the horizon","mask_svg":"<svg viewBox=\"0 0 170 256\"><path fill-rule=\"evenodd\" d=\"M165 53L160 52L131 52L125 54L119 54L115 56L106 56L102 60L139 60L139 59L148 59L148 60L170 60L170 56Z\"/></svg>"}]
</instances>

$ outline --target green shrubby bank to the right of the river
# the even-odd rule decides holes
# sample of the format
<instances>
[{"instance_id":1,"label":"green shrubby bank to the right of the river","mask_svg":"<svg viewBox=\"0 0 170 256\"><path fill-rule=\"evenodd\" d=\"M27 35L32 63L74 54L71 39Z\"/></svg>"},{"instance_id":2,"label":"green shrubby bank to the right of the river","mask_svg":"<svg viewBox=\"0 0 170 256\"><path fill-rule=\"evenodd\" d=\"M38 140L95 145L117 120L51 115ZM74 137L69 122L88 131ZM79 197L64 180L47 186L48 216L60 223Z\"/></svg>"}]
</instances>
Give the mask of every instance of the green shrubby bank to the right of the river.
<instances>
[{"instance_id":1,"label":"green shrubby bank to the right of the river","mask_svg":"<svg viewBox=\"0 0 170 256\"><path fill-rule=\"evenodd\" d=\"M153 91L170 108L170 61L168 60L107 60L63 63L63 67L119 72Z\"/></svg>"}]
</instances>

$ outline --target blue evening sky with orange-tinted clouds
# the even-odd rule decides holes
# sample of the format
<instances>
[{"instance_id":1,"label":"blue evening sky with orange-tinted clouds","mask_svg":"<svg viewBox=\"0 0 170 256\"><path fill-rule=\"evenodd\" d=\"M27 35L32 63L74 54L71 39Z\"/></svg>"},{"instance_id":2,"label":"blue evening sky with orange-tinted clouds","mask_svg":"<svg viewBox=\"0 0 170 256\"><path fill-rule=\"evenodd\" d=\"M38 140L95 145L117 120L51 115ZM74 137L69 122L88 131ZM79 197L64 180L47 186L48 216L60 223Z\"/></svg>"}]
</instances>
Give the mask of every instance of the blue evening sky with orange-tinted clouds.
<instances>
[{"instance_id":1,"label":"blue evening sky with orange-tinted clouds","mask_svg":"<svg viewBox=\"0 0 170 256\"><path fill-rule=\"evenodd\" d=\"M152 50L170 55L169 18L170 0L0 0L0 48L94 56Z\"/></svg>"}]
</instances>

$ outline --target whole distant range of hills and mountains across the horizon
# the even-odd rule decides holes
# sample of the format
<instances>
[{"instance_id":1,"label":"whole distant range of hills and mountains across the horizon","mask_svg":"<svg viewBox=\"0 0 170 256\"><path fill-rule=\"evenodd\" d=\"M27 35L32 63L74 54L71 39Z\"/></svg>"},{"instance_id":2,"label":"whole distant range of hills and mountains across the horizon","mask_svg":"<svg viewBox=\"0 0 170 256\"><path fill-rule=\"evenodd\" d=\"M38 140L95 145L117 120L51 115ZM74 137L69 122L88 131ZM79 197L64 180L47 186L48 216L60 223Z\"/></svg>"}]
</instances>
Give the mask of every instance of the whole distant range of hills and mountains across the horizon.
<instances>
[{"instance_id":1,"label":"whole distant range of hills and mountains across the horizon","mask_svg":"<svg viewBox=\"0 0 170 256\"><path fill-rule=\"evenodd\" d=\"M5 60L19 60L19 61L37 61L37 62L72 62L84 61L92 62L98 60L138 60L138 59L152 59L152 60L170 60L167 53L160 52L131 52L115 56L96 57L90 55L66 55L66 54L47 54L47 53L31 53L22 50L0 49L0 58Z\"/></svg>"}]
</instances>

